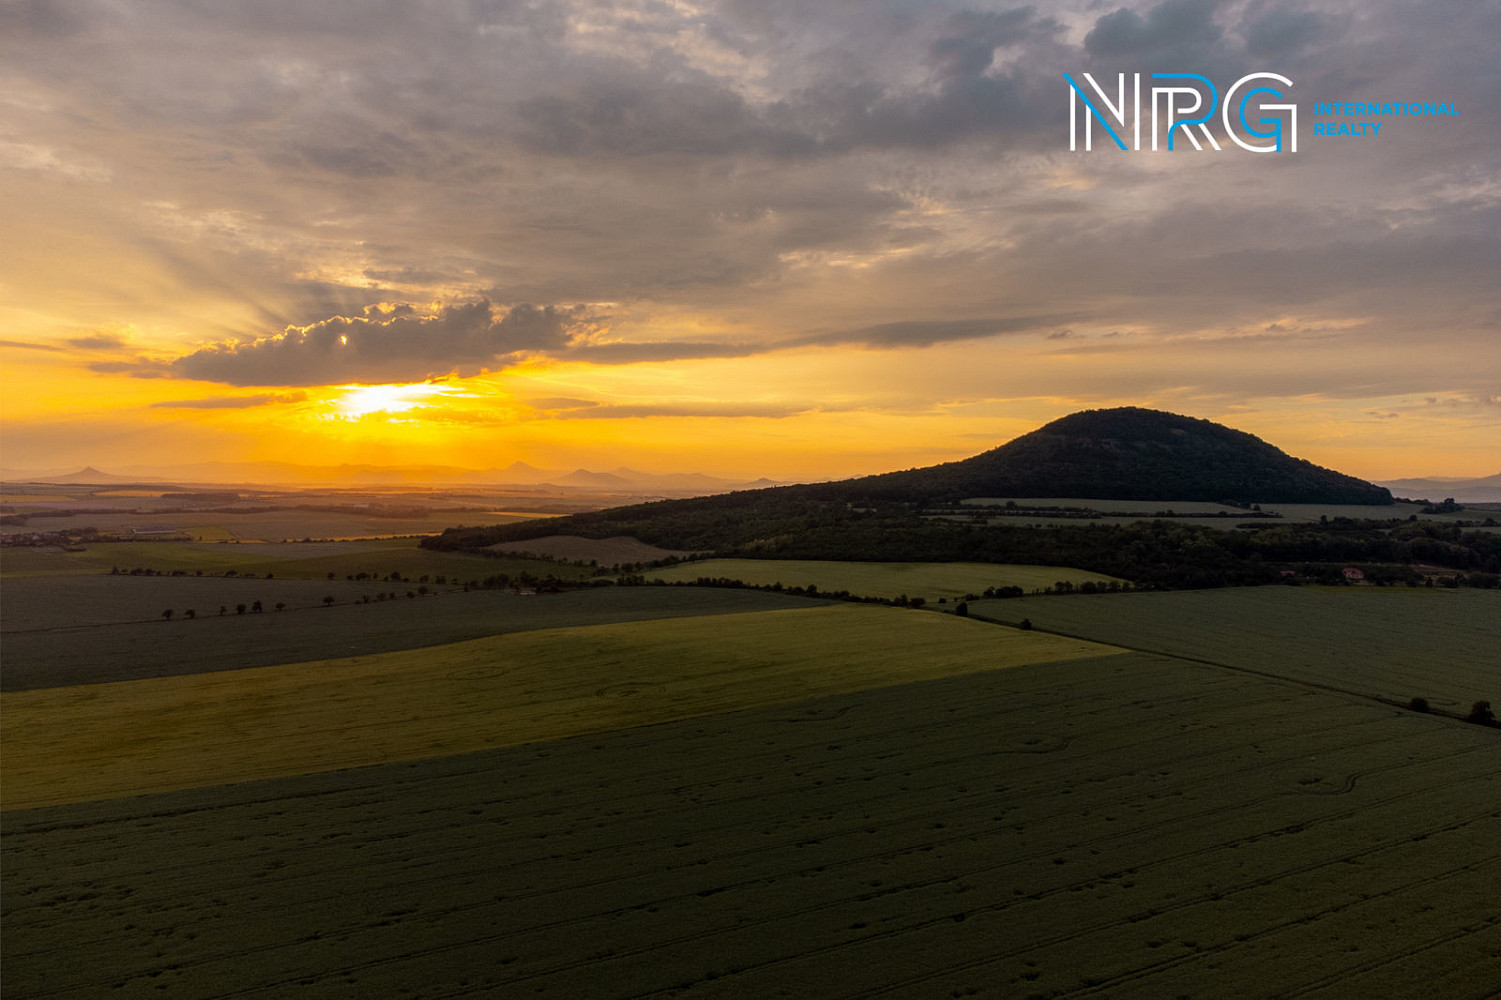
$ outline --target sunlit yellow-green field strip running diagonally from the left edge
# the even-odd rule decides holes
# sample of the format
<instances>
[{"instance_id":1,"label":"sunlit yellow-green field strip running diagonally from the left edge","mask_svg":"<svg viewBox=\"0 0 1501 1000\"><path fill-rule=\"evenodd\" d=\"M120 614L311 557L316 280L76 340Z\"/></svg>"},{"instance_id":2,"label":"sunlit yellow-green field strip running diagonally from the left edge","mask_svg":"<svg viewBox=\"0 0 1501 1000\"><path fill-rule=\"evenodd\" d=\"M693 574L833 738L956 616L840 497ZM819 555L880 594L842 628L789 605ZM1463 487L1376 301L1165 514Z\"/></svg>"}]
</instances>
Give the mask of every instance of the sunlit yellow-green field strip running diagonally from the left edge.
<instances>
[{"instance_id":1,"label":"sunlit yellow-green field strip running diagonally from the left edge","mask_svg":"<svg viewBox=\"0 0 1501 1000\"><path fill-rule=\"evenodd\" d=\"M836 605L9 692L5 808L444 757L1115 652Z\"/></svg>"}]
</instances>

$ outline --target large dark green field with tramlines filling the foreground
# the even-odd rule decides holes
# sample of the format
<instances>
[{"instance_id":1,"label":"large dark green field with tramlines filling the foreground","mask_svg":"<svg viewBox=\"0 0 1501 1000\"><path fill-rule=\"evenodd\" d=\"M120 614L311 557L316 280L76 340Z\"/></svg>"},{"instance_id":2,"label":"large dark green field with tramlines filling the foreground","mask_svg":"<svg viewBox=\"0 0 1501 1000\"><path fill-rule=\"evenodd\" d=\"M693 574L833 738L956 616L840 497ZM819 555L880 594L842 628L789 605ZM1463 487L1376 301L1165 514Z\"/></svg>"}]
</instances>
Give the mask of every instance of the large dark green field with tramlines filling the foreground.
<instances>
[{"instance_id":1,"label":"large dark green field with tramlines filling the foreground","mask_svg":"<svg viewBox=\"0 0 1501 1000\"><path fill-rule=\"evenodd\" d=\"M1019 667L6 812L6 992L1478 1000L1498 803L1478 727Z\"/></svg>"}]
</instances>

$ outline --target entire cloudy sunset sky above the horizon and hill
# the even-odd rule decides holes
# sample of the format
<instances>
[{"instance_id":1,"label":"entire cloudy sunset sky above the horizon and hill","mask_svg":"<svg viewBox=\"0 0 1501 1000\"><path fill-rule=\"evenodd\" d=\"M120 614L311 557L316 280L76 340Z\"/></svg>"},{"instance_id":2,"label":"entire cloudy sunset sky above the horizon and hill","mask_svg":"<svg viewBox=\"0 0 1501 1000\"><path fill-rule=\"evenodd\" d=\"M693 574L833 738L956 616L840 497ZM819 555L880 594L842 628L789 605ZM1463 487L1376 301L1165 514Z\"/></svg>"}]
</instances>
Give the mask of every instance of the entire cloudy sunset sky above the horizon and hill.
<instances>
[{"instance_id":1,"label":"entire cloudy sunset sky above the horizon and hill","mask_svg":"<svg viewBox=\"0 0 1501 1000\"><path fill-rule=\"evenodd\" d=\"M1070 150L1118 72L1279 74L1298 150ZM823 479L1147 405L1493 474L1498 108L1496 0L0 0L0 464Z\"/></svg>"}]
</instances>

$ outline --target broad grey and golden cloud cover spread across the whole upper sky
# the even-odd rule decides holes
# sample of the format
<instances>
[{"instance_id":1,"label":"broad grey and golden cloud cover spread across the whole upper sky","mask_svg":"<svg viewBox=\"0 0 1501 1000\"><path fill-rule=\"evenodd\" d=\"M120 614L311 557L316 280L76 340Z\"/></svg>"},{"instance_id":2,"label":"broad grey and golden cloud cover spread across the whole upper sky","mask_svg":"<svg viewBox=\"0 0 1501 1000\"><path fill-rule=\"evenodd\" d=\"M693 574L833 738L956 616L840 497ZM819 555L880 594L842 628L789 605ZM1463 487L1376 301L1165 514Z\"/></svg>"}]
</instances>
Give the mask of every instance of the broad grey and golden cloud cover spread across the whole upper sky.
<instances>
[{"instance_id":1,"label":"broad grey and golden cloud cover spread across the whole upper sky","mask_svg":"<svg viewBox=\"0 0 1501 1000\"><path fill-rule=\"evenodd\" d=\"M135 323L188 345L80 363L225 386L422 381L536 356L827 348L815 360L835 368L842 348L923 348L913 377L938 398L977 351L991 378L1073 348L1076 365L1051 369L1058 396L1208 380L1469 393L1501 374L1501 8L1357 14L1333 0L0 3L6 155L26 167L8 171L8 237L35 248L8 318L60 320L8 324L8 345L110 351L126 345L53 330ZM1283 72L1303 149L1072 155L1061 69L1222 87ZM1364 144L1310 135L1312 101L1376 93L1456 101L1465 117L1394 120ZM392 297L423 305L371 308ZM545 305L599 302L618 303L608 326ZM653 317L726 333L660 339ZM1327 356L1306 336L1198 339L1331 317L1366 323ZM1090 354L1111 329L1133 350ZM1195 369L1207 354L1213 377ZM832 389L868 392L851 384L865 374L841 377Z\"/></svg>"}]
</instances>

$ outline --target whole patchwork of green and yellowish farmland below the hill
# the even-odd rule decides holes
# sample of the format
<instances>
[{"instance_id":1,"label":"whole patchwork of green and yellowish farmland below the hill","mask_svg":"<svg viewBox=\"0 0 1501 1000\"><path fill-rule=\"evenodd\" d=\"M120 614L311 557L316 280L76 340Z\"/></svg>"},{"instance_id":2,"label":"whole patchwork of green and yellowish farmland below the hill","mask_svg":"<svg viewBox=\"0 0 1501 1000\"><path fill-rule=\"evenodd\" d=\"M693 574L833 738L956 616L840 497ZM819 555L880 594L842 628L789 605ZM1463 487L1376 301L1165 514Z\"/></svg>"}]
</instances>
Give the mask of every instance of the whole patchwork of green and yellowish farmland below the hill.
<instances>
[{"instance_id":1,"label":"whole patchwork of green and yellowish farmland below the hill","mask_svg":"<svg viewBox=\"0 0 1501 1000\"><path fill-rule=\"evenodd\" d=\"M719 559L648 575L805 595L453 584L522 572L591 571L413 539L8 550L6 995L1501 982L1501 739L1444 715L1501 701L1501 592L961 619L938 599L1109 578Z\"/></svg>"}]
</instances>

